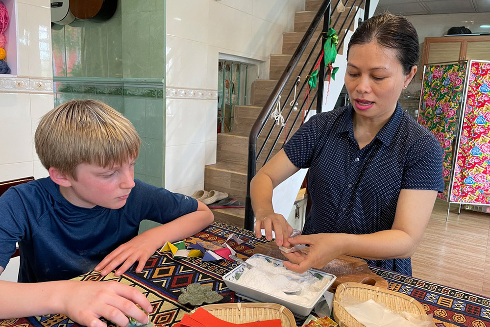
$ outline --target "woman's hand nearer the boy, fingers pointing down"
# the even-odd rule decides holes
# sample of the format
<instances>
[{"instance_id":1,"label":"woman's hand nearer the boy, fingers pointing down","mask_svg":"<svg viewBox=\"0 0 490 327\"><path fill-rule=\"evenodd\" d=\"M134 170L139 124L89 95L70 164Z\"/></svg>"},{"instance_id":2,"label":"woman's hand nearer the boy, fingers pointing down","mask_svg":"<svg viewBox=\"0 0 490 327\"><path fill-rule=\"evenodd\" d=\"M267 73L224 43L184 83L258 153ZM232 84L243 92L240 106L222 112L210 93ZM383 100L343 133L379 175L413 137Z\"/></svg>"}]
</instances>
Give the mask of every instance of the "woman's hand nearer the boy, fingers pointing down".
<instances>
[{"instance_id":1,"label":"woman's hand nearer the boy, fingers pointing down","mask_svg":"<svg viewBox=\"0 0 490 327\"><path fill-rule=\"evenodd\" d=\"M264 215L258 215L255 217L255 236L257 238L262 237L261 230L264 229L266 232L266 239L268 241L272 240L272 230L275 233L275 240L277 246L288 247L288 238L293 233L293 227L288 224L283 215L278 213L270 212Z\"/></svg>"}]
</instances>

